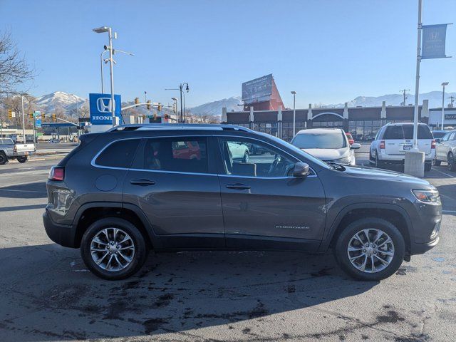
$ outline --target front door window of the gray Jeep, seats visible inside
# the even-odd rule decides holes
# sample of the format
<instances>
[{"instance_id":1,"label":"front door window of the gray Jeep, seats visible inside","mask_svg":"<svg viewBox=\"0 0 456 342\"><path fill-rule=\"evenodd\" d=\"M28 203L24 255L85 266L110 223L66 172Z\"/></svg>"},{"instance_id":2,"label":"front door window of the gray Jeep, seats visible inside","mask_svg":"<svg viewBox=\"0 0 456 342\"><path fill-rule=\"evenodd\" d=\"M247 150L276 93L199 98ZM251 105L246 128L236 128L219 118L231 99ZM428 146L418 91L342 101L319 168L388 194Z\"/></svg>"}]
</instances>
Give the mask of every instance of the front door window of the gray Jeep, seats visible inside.
<instances>
[{"instance_id":1,"label":"front door window of the gray Jeep, seats visible inside","mask_svg":"<svg viewBox=\"0 0 456 342\"><path fill-rule=\"evenodd\" d=\"M225 175L247 177L289 177L294 161L283 152L257 140L220 139Z\"/></svg>"}]
</instances>

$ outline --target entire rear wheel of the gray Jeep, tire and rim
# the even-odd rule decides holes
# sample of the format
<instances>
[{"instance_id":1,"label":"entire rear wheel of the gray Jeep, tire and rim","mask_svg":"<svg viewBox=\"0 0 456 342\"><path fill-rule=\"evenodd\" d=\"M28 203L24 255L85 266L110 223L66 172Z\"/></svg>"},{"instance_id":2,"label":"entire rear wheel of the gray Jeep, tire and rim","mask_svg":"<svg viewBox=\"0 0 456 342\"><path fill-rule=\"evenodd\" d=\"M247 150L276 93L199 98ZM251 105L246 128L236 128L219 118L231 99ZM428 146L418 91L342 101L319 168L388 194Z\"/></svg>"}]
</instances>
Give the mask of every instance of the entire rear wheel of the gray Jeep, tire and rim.
<instances>
[{"instance_id":1,"label":"entire rear wheel of the gray Jeep, tire and rim","mask_svg":"<svg viewBox=\"0 0 456 342\"><path fill-rule=\"evenodd\" d=\"M108 280L132 276L144 264L147 254L141 232L125 219L100 219L88 227L81 241L81 257L88 269Z\"/></svg>"}]
</instances>

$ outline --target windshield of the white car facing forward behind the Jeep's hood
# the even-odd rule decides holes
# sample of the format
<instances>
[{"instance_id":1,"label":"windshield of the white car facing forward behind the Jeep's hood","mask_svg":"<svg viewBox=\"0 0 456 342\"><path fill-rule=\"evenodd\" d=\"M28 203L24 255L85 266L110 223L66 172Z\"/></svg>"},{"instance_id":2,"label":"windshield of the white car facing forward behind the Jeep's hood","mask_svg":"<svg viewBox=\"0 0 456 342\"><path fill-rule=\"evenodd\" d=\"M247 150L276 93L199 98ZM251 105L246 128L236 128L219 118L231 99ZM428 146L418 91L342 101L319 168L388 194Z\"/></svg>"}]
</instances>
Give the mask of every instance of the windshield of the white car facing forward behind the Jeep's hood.
<instances>
[{"instance_id":1,"label":"windshield of the white car facing forward behind the Jeep's hood","mask_svg":"<svg viewBox=\"0 0 456 342\"><path fill-rule=\"evenodd\" d=\"M338 149L346 147L345 135L340 130L327 132L306 132L297 134L291 144L299 148L329 148Z\"/></svg>"}]
</instances>

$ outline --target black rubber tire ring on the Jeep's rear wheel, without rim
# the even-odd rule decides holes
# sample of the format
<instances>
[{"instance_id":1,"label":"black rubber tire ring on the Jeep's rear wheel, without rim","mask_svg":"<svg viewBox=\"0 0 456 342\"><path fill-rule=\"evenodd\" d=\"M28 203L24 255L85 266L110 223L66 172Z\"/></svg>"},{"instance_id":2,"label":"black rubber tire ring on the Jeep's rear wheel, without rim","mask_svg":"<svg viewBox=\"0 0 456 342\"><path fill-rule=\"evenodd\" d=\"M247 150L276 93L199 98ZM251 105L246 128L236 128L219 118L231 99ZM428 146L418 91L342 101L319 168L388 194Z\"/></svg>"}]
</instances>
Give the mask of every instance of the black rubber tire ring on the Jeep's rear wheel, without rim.
<instances>
[{"instance_id":1,"label":"black rubber tire ring on the Jeep's rear wheel, without rim","mask_svg":"<svg viewBox=\"0 0 456 342\"><path fill-rule=\"evenodd\" d=\"M120 228L126 232L131 237L135 247L135 253L133 254L132 261L125 267L125 269L120 269L119 271L108 271L103 269L95 263L92 255L90 254L90 244L93 237L95 237L95 235L103 229L110 227ZM145 263L148 253L149 249L138 228L136 228L131 222L117 217L106 217L94 222L83 234L81 241L81 257L83 258L84 264L86 264L87 268L90 269L95 276L99 276L100 278L107 280L120 280L132 276L139 271L141 266Z\"/></svg>"}]
</instances>

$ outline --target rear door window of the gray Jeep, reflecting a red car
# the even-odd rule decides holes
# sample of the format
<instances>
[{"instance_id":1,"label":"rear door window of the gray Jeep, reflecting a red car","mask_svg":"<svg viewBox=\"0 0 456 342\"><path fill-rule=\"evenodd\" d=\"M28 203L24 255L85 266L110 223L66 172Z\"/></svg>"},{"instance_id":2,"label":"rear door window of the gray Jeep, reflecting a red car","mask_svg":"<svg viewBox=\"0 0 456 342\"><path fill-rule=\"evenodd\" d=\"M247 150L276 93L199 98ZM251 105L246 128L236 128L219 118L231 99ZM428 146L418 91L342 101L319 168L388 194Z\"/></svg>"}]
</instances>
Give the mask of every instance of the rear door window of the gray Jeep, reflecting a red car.
<instances>
[{"instance_id":1,"label":"rear door window of the gray Jeep, reflecting a red car","mask_svg":"<svg viewBox=\"0 0 456 342\"><path fill-rule=\"evenodd\" d=\"M207 173L207 138L150 138L145 142L141 169Z\"/></svg>"}]
</instances>

